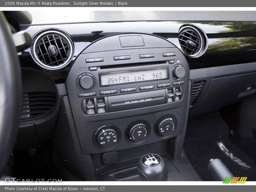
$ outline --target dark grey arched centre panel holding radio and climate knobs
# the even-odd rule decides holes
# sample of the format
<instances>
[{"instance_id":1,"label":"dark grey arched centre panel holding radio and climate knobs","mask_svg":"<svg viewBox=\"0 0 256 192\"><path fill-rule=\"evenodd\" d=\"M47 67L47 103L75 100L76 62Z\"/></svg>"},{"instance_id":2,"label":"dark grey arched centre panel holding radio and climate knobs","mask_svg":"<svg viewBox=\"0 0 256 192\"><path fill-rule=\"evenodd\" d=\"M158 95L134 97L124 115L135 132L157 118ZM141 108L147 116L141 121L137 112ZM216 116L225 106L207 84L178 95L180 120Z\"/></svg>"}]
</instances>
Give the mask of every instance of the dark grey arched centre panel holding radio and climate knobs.
<instances>
[{"instance_id":1,"label":"dark grey arched centre panel holding radio and climate knobs","mask_svg":"<svg viewBox=\"0 0 256 192\"><path fill-rule=\"evenodd\" d=\"M189 67L163 38L102 38L76 58L66 86L83 153L138 147L183 132Z\"/></svg>"}]
</instances>

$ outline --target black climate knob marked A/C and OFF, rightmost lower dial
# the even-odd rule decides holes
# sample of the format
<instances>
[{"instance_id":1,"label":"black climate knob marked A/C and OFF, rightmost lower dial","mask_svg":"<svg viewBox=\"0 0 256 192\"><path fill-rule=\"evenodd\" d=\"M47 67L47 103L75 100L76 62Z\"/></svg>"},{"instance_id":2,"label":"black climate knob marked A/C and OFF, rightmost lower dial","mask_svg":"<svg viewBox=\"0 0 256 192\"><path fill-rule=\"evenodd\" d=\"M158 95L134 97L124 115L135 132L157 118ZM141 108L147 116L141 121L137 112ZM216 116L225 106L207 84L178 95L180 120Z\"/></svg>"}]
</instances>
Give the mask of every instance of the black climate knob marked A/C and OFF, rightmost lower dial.
<instances>
[{"instance_id":1,"label":"black climate knob marked A/C and OFF, rightmost lower dial","mask_svg":"<svg viewBox=\"0 0 256 192\"><path fill-rule=\"evenodd\" d=\"M164 117L160 119L159 123L156 126L156 131L161 136L171 135L176 128L175 122L171 117Z\"/></svg>"}]
</instances>

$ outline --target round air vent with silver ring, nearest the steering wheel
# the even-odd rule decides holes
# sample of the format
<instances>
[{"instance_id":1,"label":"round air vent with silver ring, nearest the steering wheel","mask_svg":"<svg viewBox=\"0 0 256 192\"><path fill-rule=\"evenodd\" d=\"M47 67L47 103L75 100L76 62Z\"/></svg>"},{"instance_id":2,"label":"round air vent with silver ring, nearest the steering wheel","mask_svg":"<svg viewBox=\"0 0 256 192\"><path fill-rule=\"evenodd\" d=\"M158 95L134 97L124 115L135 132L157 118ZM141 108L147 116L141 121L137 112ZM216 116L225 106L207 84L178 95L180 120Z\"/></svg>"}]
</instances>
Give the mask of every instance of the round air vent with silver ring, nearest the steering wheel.
<instances>
[{"instance_id":1,"label":"round air vent with silver ring, nearest the steering wheel","mask_svg":"<svg viewBox=\"0 0 256 192\"><path fill-rule=\"evenodd\" d=\"M32 55L38 65L55 70L68 65L73 56L73 43L62 31L46 30L33 41Z\"/></svg>"}]
</instances>

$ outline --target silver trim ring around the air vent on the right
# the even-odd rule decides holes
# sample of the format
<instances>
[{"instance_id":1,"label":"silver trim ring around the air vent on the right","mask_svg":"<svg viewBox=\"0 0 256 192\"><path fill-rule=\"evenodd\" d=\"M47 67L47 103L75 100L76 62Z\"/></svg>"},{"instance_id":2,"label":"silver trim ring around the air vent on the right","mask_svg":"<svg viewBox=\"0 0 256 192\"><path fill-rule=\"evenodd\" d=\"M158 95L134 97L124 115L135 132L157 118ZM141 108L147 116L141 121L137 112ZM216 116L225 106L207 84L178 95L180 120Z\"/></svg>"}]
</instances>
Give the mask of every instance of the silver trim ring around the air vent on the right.
<instances>
[{"instance_id":1,"label":"silver trim ring around the air vent on the right","mask_svg":"<svg viewBox=\"0 0 256 192\"><path fill-rule=\"evenodd\" d=\"M185 53L185 52L183 51L182 47L180 47L180 48L181 48L181 51L182 51L185 55L188 55L189 57L193 57L193 58L197 58L197 57L202 56L202 55L206 52L206 50L207 50L207 48L208 48L208 38L207 38L206 34L204 33L204 31L203 31L201 28L199 28L199 27L197 27L197 26L193 27L193 26L191 26L191 24L189 24L189 25L185 25L185 26L183 26L183 27L181 27L181 28L179 29L179 32L178 32L179 36L180 36L180 32L181 32L184 28L191 28L191 29L195 30L195 31L198 33L198 36L200 37L201 45L200 45L200 50L199 50L197 53L193 54L193 55L189 55L189 54ZM204 42L204 40L203 40L202 34L201 34L201 33L199 32L199 30L197 30L196 28L199 28L199 29L201 30L201 32L203 33L203 35L204 35L204 37L205 37L205 39L206 39L204 50L203 50L203 42ZM178 39L179 39L179 36L178 36ZM180 41L179 41L179 43L180 43Z\"/></svg>"}]
</instances>

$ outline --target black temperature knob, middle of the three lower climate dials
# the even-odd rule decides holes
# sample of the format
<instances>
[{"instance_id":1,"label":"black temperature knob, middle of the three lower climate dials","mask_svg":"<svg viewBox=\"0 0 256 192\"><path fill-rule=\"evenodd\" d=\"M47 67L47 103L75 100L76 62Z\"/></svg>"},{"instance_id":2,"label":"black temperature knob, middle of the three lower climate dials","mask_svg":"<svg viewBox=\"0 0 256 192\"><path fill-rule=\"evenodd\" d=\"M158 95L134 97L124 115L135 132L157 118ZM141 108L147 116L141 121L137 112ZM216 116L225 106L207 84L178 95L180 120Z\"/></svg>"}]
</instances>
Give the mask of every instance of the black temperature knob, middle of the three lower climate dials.
<instances>
[{"instance_id":1,"label":"black temperature knob, middle of the three lower climate dials","mask_svg":"<svg viewBox=\"0 0 256 192\"><path fill-rule=\"evenodd\" d=\"M128 137L133 142L141 142L148 136L148 128L145 124L135 124L128 129Z\"/></svg>"}]
</instances>

